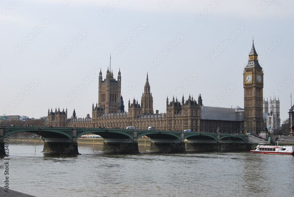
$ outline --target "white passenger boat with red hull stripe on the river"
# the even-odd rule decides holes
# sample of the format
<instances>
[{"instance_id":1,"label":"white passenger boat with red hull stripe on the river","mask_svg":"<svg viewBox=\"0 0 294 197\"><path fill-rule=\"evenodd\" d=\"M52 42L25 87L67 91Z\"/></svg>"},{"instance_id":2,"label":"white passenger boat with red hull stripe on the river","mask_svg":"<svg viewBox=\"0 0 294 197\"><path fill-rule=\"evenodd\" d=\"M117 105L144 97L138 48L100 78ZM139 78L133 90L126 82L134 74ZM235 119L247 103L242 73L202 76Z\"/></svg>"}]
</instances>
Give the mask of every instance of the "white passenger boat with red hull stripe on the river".
<instances>
[{"instance_id":1,"label":"white passenger boat with red hull stripe on the river","mask_svg":"<svg viewBox=\"0 0 294 197\"><path fill-rule=\"evenodd\" d=\"M253 150L250 150L250 153L294 154L294 146L268 146L260 143Z\"/></svg>"}]
</instances>

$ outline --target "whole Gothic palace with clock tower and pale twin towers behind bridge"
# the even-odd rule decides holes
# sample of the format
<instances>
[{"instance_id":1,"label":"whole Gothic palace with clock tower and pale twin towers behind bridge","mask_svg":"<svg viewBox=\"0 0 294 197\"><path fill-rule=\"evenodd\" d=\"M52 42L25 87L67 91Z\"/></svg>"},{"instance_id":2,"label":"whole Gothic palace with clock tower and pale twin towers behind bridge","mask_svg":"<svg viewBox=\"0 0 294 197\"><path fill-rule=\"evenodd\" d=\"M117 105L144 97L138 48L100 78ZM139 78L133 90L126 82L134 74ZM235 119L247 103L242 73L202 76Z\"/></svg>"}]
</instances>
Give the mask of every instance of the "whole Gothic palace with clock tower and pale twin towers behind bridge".
<instances>
[{"instance_id":1,"label":"whole Gothic palace with clock tower and pale twin towers behind bridge","mask_svg":"<svg viewBox=\"0 0 294 197\"><path fill-rule=\"evenodd\" d=\"M55 112L48 110L48 121L58 127L110 127L126 128L134 126L136 129L156 127L157 130L191 129L193 132L220 132L258 134L264 128L280 128L280 101L270 99L270 113L268 101L263 99L263 69L258 63L258 55L254 48L249 53L248 64L243 73L244 109L241 107L223 108L210 107L202 104L201 95L198 100L193 96L181 100L166 99L166 113L153 111L153 97L148 82L143 89L141 104L133 99L128 101L128 112L125 111L121 96L121 72L118 71L117 80L112 71L107 69L106 78L102 77L100 69L98 82L98 103L92 105L92 117L78 118L74 110L70 118L67 109ZM264 121L264 118L266 121ZM274 121L275 120L275 121Z\"/></svg>"}]
</instances>

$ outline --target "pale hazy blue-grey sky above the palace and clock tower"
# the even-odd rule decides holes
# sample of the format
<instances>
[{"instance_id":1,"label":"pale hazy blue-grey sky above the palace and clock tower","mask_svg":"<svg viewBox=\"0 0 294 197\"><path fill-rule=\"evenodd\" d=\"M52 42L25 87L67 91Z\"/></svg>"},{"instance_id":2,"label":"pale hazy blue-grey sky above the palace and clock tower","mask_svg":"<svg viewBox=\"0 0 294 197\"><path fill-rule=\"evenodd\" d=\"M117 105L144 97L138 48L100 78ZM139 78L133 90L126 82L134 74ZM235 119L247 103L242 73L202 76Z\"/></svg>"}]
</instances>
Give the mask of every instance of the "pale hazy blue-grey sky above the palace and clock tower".
<instances>
[{"instance_id":1,"label":"pale hazy blue-grey sky above the palace and clock tower","mask_svg":"<svg viewBox=\"0 0 294 197\"><path fill-rule=\"evenodd\" d=\"M205 106L244 107L254 36L263 96L279 98L282 122L294 87L293 8L290 0L2 0L0 114L92 116L110 54L126 111L129 99L141 103L147 73L154 112L166 112L167 97L199 94Z\"/></svg>"}]
</instances>

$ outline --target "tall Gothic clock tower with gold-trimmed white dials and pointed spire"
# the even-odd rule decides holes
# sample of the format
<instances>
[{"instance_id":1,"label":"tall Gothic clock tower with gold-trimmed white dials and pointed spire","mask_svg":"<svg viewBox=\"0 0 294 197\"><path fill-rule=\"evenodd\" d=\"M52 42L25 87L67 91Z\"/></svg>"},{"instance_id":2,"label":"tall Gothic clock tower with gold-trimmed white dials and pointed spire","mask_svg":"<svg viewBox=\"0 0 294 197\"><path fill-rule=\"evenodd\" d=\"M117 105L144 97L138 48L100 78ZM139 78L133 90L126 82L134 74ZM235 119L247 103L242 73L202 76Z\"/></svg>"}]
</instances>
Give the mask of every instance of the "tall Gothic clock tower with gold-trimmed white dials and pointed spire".
<instances>
[{"instance_id":1,"label":"tall Gothic clock tower with gold-trimmed white dials and pointed spire","mask_svg":"<svg viewBox=\"0 0 294 197\"><path fill-rule=\"evenodd\" d=\"M263 127L263 70L258 63L254 40L243 75L244 131L256 135Z\"/></svg>"}]
</instances>

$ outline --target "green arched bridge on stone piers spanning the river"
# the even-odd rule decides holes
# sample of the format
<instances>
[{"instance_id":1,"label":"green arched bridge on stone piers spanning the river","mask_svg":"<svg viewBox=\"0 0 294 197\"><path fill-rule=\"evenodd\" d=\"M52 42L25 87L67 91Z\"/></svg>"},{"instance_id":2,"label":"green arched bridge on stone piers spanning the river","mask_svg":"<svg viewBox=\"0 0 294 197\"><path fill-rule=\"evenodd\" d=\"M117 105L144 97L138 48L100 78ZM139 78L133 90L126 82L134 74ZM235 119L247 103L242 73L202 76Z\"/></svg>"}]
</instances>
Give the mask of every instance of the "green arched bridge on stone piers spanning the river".
<instances>
[{"instance_id":1,"label":"green arched bridge on stone piers spanning the river","mask_svg":"<svg viewBox=\"0 0 294 197\"><path fill-rule=\"evenodd\" d=\"M43 152L79 154L77 139L86 134L103 137L103 151L139 153L137 139L151 139L151 151L163 153L187 151L244 151L248 149L247 135L206 132L163 131L145 129L81 128L81 127L15 127L0 126L0 154L11 134L30 132L41 136ZM187 140L185 147L184 140ZM2 144L3 143L3 144ZM251 145L250 145L251 148ZM3 150L1 150L3 149Z\"/></svg>"}]
</instances>

